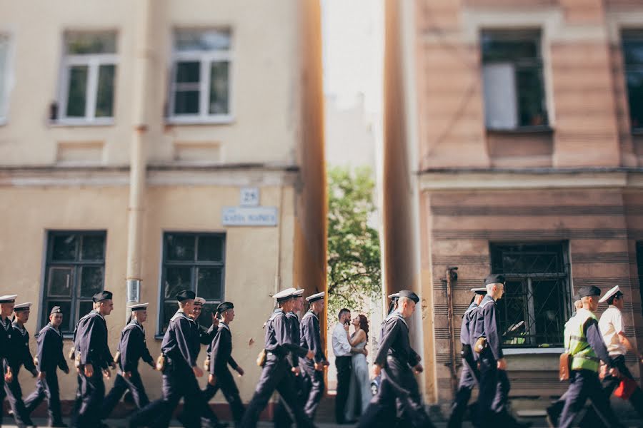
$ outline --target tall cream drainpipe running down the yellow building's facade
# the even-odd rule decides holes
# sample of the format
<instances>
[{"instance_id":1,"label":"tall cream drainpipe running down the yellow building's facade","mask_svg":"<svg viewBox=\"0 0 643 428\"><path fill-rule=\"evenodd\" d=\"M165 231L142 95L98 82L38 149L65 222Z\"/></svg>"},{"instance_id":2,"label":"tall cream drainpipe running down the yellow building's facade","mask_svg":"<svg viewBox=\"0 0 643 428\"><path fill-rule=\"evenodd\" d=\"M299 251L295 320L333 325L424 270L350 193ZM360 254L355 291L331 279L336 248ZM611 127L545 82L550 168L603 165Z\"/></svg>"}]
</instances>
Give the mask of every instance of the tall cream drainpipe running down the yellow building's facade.
<instances>
[{"instance_id":1,"label":"tall cream drainpipe running down the yellow building's facade","mask_svg":"<svg viewBox=\"0 0 643 428\"><path fill-rule=\"evenodd\" d=\"M132 91L133 130L129 165L129 206L127 207L126 300L138 302L141 297L141 224L145 212L146 138L148 131L146 98L151 61L151 9L154 0L134 2L137 21L135 31L134 80ZM126 317L127 317L127 311Z\"/></svg>"}]
</instances>

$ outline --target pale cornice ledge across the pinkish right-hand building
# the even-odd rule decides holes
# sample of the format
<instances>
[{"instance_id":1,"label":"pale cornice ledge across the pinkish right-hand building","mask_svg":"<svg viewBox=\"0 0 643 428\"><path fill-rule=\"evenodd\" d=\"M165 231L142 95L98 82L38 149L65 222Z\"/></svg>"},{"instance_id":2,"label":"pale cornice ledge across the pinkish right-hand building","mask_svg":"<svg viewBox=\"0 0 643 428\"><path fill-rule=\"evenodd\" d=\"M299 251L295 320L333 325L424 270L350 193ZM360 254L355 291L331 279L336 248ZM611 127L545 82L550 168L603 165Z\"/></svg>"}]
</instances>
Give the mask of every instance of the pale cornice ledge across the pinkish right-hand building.
<instances>
[{"instance_id":1,"label":"pale cornice ledge across the pinkish right-hand building","mask_svg":"<svg viewBox=\"0 0 643 428\"><path fill-rule=\"evenodd\" d=\"M422 190L643 188L643 168L431 168L417 177Z\"/></svg>"}]
</instances>

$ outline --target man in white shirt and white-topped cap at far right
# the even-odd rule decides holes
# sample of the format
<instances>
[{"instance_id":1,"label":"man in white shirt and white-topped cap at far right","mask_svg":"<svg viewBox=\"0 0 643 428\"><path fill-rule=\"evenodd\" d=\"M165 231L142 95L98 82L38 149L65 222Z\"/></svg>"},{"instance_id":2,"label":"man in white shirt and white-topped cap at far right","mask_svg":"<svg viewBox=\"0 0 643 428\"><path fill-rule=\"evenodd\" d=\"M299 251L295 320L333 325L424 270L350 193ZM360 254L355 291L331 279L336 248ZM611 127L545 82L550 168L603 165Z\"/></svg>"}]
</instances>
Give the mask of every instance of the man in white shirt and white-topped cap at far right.
<instances>
[{"instance_id":1,"label":"man in white shirt and white-topped cap at far right","mask_svg":"<svg viewBox=\"0 0 643 428\"><path fill-rule=\"evenodd\" d=\"M629 372L627 366L625 365L625 355L627 352L632 352L637 355L637 360L641 361L642 355L639 351L632 345L632 342L629 340L627 335L625 335L625 325L623 322L623 315L621 311L625 303L625 298L621 289L617 285L612 287L605 295L599 300L599 303L607 302L607 310L603 312L599 320L599 329L605 345L607 346L607 352L609 352L609 357L612 358L614 362L614 367L617 367L619 370L620 377L614 377L609 372L605 375L602 380L602 386L608 397L612 395L614 389L616 389L621 380L624 377L634 380L632 373ZM632 406L639 414L639 417L643 418L643 391L638 386L638 382L632 382L632 386L636 385L634 392L629 396L629 402L632 403ZM593 412L593 409L589 409L587 414L585 414L584 419L581 421L582 427L591 427L594 421L597 420L595 417L596 414Z\"/></svg>"}]
</instances>

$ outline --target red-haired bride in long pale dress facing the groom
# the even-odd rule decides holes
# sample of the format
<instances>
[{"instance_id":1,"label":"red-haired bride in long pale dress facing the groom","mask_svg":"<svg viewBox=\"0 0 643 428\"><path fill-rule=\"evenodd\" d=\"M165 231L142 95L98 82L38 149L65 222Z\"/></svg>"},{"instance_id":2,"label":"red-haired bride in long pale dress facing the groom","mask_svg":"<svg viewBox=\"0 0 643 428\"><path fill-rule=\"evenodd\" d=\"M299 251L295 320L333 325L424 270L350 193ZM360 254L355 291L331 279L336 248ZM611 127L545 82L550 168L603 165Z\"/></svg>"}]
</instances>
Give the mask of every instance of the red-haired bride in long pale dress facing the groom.
<instances>
[{"instance_id":1,"label":"red-haired bride in long pale dress facing the groom","mask_svg":"<svg viewBox=\"0 0 643 428\"><path fill-rule=\"evenodd\" d=\"M369 340L369 320L362 314L353 318L355 331L349 335L352 347L363 348ZM347 333L348 334L348 333ZM346 420L354 421L369 405L373 395L369 378L369 364L364 354L352 356L351 383L346 405Z\"/></svg>"}]
</instances>

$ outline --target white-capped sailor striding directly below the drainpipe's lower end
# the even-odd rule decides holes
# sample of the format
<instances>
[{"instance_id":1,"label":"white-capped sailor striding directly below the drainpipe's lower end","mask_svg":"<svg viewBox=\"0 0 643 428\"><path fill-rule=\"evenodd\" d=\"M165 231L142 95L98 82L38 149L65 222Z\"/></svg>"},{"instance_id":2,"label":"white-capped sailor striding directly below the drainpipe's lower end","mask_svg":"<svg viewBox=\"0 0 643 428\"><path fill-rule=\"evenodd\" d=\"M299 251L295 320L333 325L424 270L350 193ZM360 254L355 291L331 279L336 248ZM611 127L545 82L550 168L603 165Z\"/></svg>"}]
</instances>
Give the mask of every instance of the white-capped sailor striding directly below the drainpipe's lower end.
<instances>
[{"instance_id":1,"label":"white-capped sailor striding directly below the drainpipe's lower end","mask_svg":"<svg viewBox=\"0 0 643 428\"><path fill-rule=\"evenodd\" d=\"M103 418L109 417L111 411L114 410L114 407L116 407L116 404L128 389L136 407L141 409L149 404L141 374L139 374L139 360L143 360L152 369L156 369L154 359L147 349L145 329L143 327L143 323L147 320L147 305L149 303L138 303L129 307L129 310L131 310L129 320L121 332L119 350L116 352L116 361L120 370L116 374L114 386L103 402Z\"/></svg>"}]
</instances>

